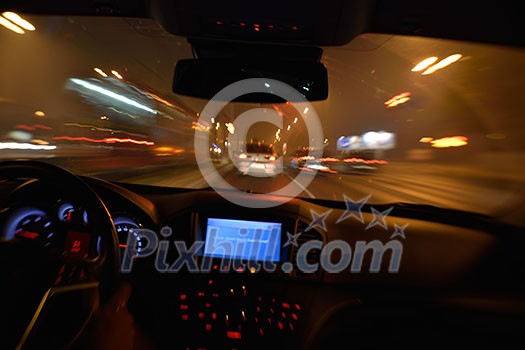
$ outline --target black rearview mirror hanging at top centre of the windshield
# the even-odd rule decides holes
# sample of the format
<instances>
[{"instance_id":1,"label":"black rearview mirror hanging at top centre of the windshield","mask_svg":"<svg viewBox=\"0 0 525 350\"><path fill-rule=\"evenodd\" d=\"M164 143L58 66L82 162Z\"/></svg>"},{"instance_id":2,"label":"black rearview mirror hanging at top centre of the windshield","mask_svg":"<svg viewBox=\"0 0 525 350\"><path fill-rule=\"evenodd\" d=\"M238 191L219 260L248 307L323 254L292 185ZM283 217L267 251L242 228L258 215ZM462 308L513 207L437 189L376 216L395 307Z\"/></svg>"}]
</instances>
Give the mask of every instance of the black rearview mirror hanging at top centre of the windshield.
<instances>
[{"instance_id":1,"label":"black rearview mirror hanging at top centre of the windshield","mask_svg":"<svg viewBox=\"0 0 525 350\"><path fill-rule=\"evenodd\" d=\"M211 99L226 86L249 78L282 81L295 88L309 101L328 98L328 74L319 62L241 61L224 59L186 59L177 62L173 92ZM283 100L269 93L251 93L237 102L279 103ZM299 102L299 101L290 101Z\"/></svg>"}]
</instances>

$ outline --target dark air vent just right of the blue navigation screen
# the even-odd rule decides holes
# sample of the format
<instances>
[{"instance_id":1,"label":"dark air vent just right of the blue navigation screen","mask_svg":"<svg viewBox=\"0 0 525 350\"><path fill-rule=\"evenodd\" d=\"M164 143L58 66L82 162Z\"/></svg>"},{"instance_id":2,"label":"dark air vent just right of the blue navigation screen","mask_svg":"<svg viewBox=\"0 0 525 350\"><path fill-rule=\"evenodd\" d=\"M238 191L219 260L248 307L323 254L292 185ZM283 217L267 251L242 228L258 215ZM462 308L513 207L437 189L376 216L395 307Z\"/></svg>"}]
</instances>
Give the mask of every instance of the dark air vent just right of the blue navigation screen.
<instances>
[{"instance_id":1,"label":"dark air vent just right of the blue navigation screen","mask_svg":"<svg viewBox=\"0 0 525 350\"><path fill-rule=\"evenodd\" d=\"M297 252L299 248L309 241L321 241L324 242L323 235L319 233L319 231L316 231L315 229L308 229L308 224L302 220L297 220L295 225L295 234L299 234L299 237L297 237L297 247L291 246L292 249L290 250L290 262L293 264L293 271L292 275L295 277L313 277L317 278L321 275L321 268L319 266L319 269L316 272L313 273L305 273L301 271L297 267ZM320 263L320 255L321 250L320 249L311 249L308 252L308 255L306 256L306 261L308 264L319 264Z\"/></svg>"}]
</instances>

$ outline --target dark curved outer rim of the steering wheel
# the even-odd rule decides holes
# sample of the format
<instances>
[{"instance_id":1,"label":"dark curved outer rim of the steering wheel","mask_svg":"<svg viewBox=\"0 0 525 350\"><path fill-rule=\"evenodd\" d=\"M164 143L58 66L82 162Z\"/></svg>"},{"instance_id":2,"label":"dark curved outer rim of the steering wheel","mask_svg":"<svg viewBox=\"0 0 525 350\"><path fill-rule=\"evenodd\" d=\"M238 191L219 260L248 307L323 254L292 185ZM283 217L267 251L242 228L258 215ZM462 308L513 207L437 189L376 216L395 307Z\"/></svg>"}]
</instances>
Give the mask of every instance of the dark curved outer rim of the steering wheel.
<instances>
[{"instance_id":1,"label":"dark curved outer rim of the steering wheel","mask_svg":"<svg viewBox=\"0 0 525 350\"><path fill-rule=\"evenodd\" d=\"M94 232L96 232L101 239L100 249L96 258L86 261L91 272L90 282L96 284L100 300L107 300L116 288L120 261L116 229L105 204L82 179L58 166L38 161L7 161L0 163L0 180L26 178L36 179L45 184L58 184L63 192L67 192L69 198L74 198L77 202L82 203L82 206L88 210L91 224L90 234L95 235ZM64 246L62 249L62 254L65 256L66 247ZM71 283L71 286L74 285L78 284L75 282ZM45 288L48 287L46 286ZM50 285L46 295L53 288L54 286ZM33 320L27 326L22 339L18 343L18 347L22 347L21 344L24 344L30 338L34 321L40 317L39 312L42 309L42 303L47 302L45 301L46 295L43 296L41 304L33 315ZM84 306L80 305L80 307ZM93 306L90 307L93 308ZM91 315L92 313L88 316L88 319L84 320L84 325L88 323ZM78 330L75 337L80 332L81 329ZM73 340L70 339L67 343Z\"/></svg>"}]
</instances>

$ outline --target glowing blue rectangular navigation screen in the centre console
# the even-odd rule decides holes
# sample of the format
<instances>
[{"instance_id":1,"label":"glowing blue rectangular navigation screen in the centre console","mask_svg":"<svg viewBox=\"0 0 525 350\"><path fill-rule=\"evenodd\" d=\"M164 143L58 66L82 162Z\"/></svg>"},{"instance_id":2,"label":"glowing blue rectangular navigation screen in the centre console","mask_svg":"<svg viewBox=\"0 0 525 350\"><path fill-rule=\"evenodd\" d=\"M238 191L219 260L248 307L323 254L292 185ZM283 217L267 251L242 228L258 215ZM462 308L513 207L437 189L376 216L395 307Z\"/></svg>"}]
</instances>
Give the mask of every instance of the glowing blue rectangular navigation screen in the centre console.
<instances>
[{"instance_id":1,"label":"glowing blue rectangular navigation screen in the centre console","mask_svg":"<svg viewBox=\"0 0 525 350\"><path fill-rule=\"evenodd\" d=\"M281 226L275 222L209 218L203 255L278 262Z\"/></svg>"}]
</instances>

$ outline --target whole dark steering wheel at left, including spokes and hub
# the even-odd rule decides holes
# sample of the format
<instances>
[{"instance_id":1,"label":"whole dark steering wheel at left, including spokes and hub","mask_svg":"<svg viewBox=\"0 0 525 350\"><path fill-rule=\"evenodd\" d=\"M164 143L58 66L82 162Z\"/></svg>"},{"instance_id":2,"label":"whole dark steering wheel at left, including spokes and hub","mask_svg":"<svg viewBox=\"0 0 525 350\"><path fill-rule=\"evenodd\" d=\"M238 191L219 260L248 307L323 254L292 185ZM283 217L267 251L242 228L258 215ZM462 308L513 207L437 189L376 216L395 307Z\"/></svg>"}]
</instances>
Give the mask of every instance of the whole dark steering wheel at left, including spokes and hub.
<instances>
[{"instance_id":1,"label":"whole dark steering wheel at left, including spokes and hub","mask_svg":"<svg viewBox=\"0 0 525 350\"><path fill-rule=\"evenodd\" d=\"M40 195L31 192L35 188L67 195L82 205L89 222L82 227L57 225L53 241L46 244L38 232L25 233L25 237L0 232L0 278L7 292L0 307L8 326L0 344L24 349L69 347L87 328L99 301L107 299L116 287L119 254L115 226L98 195L62 168L36 161L0 163L0 185L12 181L23 185L1 203L2 231L12 214L11 197L23 188L30 188L28 200Z\"/></svg>"}]
</instances>

